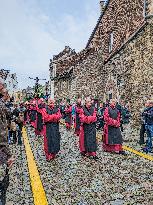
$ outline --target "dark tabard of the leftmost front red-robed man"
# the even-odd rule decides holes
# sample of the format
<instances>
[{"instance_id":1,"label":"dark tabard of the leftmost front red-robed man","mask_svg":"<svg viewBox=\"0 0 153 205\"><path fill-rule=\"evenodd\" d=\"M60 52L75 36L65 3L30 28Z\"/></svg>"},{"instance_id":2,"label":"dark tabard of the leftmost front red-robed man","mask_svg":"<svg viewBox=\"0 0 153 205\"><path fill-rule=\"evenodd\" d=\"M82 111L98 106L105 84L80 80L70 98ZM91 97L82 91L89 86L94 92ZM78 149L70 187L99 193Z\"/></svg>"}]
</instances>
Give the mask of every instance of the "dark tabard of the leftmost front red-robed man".
<instances>
[{"instance_id":1,"label":"dark tabard of the leftmost front red-robed man","mask_svg":"<svg viewBox=\"0 0 153 205\"><path fill-rule=\"evenodd\" d=\"M58 108L50 109L46 107L46 112L52 115L58 112ZM60 151L59 122L46 122L45 124L48 153L57 154Z\"/></svg>"}]
</instances>

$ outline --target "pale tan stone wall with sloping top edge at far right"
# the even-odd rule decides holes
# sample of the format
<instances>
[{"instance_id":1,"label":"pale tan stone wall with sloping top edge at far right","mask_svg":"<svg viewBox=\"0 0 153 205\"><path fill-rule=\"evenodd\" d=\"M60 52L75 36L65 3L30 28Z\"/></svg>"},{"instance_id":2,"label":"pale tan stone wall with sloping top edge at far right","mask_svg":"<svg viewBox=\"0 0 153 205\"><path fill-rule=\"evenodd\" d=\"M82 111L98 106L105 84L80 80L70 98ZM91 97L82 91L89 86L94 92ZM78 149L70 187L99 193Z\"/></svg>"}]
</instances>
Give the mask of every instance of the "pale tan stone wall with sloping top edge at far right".
<instances>
[{"instance_id":1,"label":"pale tan stone wall with sloping top edge at far right","mask_svg":"<svg viewBox=\"0 0 153 205\"><path fill-rule=\"evenodd\" d=\"M152 20L146 22L142 29L109 59L105 64L105 70L115 79L116 84L118 82L118 92L116 93L114 88L113 97L120 96L129 101L133 119L138 122L139 111L145 100L153 96Z\"/></svg>"}]
</instances>

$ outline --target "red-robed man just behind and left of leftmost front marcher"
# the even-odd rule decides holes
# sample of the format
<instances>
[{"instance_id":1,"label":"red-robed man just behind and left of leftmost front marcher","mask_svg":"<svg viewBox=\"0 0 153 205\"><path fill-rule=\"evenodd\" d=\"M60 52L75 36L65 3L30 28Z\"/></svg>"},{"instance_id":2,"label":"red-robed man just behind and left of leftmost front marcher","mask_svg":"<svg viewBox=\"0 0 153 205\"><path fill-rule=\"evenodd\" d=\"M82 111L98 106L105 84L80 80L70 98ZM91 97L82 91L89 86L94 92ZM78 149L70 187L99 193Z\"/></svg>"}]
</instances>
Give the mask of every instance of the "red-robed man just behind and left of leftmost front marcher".
<instances>
[{"instance_id":1,"label":"red-robed man just behind and left of leftmost front marcher","mask_svg":"<svg viewBox=\"0 0 153 205\"><path fill-rule=\"evenodd\" d=\"M45 103L44 99L41 98L38 100L38 106L37 106L37 122L36 122L36 130L35 133L36 135L43 136L43 118L42 118L42 112L41 110L45 108Z\"/></svg>"}]
</instances>

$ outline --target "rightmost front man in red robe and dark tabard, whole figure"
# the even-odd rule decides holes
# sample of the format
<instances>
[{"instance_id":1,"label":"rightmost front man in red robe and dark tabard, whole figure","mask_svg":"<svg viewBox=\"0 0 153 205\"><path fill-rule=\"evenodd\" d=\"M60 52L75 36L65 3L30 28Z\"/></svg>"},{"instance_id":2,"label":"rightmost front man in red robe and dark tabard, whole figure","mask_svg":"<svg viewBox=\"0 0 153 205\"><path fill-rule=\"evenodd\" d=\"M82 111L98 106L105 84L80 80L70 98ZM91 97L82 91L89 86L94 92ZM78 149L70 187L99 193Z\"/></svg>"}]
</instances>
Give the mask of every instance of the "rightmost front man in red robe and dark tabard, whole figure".
<instances>
[{"instance_id":1,"label":"rightmost front man in red robe and dark tabard, whole figure","mask_svg":"<svg viewBox=\"0 0 153 205\"><path fill-rule=\"evenodd\" d=\"M120 130L121 117L116 107L115 99L112 99L109 107L105 109L104 121L103 150L126 155L122 148L123 140Z\"/></svg>"}]
</instances>

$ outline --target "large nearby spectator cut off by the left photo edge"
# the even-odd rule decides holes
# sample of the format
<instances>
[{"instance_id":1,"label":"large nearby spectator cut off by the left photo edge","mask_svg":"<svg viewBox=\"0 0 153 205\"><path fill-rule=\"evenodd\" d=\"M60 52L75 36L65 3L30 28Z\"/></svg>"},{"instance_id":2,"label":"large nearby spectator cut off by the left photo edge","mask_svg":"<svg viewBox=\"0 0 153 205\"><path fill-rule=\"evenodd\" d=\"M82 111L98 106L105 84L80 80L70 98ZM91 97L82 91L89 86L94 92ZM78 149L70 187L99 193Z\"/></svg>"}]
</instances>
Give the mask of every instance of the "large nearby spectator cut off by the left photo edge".
<instances>
[{"instance_id":1,"label":"large nearby spectator cut off by the left photo edge","mask_svg":"<svg viewBox=\"0 0 153 205\"><path fill-rule=\"evenodd\" d=\"M7 116L10 115L5 102L9 95L0 80L0 204L6 204L6 191L9 186L9 169L11 168L14 157L8 146L8 124Z\"/></svg>"}]
</instances>

